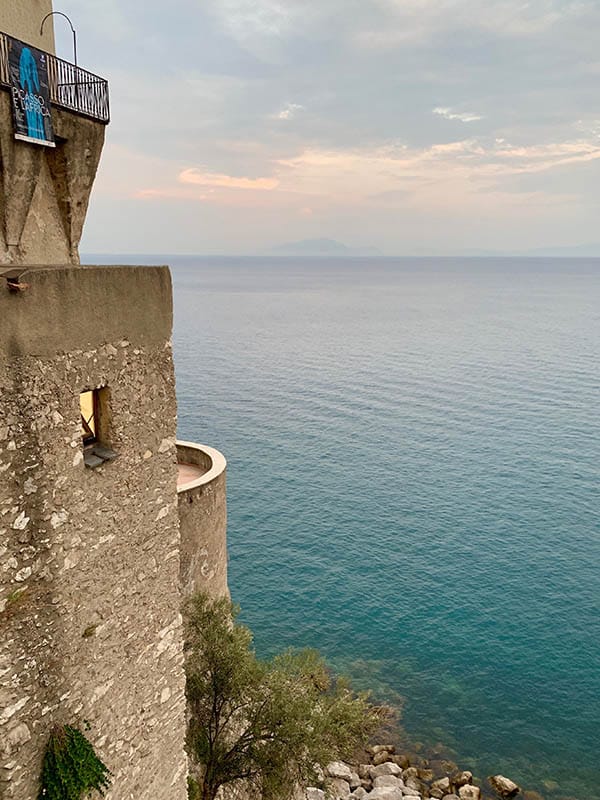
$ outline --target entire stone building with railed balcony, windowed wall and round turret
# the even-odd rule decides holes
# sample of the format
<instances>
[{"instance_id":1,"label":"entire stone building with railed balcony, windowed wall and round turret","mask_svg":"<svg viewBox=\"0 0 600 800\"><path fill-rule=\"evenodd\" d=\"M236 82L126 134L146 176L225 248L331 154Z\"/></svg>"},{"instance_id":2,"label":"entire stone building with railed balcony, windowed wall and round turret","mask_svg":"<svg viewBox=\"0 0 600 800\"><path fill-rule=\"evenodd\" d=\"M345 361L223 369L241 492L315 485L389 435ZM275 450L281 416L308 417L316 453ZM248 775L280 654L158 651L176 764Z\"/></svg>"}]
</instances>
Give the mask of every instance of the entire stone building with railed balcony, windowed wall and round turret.
<instances>
[{"instance_id":1,"label":"entire stone building with railed balcony, windowed wall and round turret","mask_svg":"<svg viewBox=\"0 0 600 800\"><path fill-rule=\"evenodd\" d=\"M225 460L176 442L169 270L78 266L108 94L53 60L49 9L0 0L0 798L89 724L107 797L184 800L181 596L227 592ZM15 52L54 147L15 138Z\"/></svg>"}]
</instances>

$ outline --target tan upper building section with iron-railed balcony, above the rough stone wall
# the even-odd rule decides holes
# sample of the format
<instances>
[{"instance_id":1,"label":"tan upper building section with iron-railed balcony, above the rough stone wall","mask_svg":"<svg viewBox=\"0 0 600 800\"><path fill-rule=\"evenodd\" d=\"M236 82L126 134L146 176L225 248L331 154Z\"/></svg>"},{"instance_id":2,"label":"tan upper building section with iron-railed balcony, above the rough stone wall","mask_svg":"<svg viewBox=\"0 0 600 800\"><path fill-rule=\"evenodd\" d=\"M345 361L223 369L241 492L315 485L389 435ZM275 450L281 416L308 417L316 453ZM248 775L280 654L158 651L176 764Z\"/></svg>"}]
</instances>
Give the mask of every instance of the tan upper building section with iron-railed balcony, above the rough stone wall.
<instances>
[{"instance_id":1,"label":"tan upper building section with iron-railed balcony, above the rough stone wall","mask_svg":"<svg viewBox=\"0 0 600 800\"><path fill-rule=\"evenodd\" d=\"M51 10L50 0L0 0L0 265L79 263L79 241L109 120L107 82L56 58L53 17L40 35ZM20 76L11 63L15 39L30 52L39 51L39 59L30 58ZM39 83L47 84L51 146L33 147L15 138L13 93L20 88L19 78L32 103L43 102Z\"/></svg>"}]
</instances>

